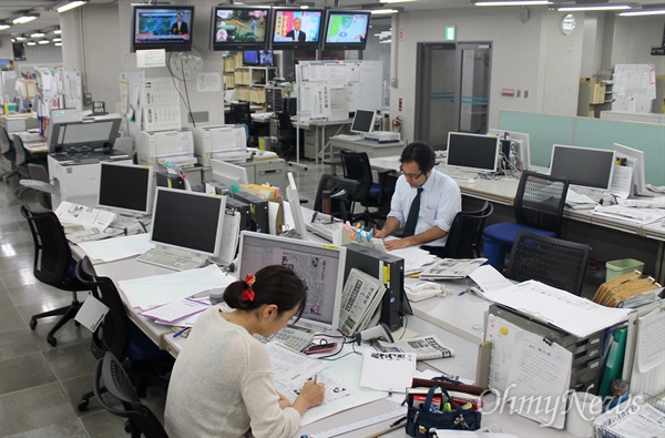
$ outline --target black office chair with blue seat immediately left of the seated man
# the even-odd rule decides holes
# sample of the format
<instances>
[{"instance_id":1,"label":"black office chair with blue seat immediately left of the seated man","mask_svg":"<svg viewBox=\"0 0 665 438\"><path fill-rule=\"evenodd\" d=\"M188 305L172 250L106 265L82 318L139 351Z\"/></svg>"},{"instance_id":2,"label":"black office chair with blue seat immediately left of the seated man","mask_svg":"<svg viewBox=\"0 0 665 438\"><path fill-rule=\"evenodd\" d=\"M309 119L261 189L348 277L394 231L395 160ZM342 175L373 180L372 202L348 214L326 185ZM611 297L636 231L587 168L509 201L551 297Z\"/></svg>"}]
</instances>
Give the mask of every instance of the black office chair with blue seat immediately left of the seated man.
<instances>
[{"instance_id":1,"label":"black office chair with blue seat immediately left of the seated man","mask_svg":"<svg viewBox=\"0 0 665 438\"><path fill-rule=\"evenodd\" d=\"M379 183L372 180L371 165L369 156L366 152L347 152L341 151L341 165L344 167L344 176L350 180L358 181L356 190L356 202L365 207L365 212L354 216L352 222L362 220L365 225L370 223L377 224L377 220L386 220L386 215L380 213L370 213L370 207L381 208L390 203L395 185L388 184L388 175L392 170L378 171Z\"/></svg>"}]
</instances>

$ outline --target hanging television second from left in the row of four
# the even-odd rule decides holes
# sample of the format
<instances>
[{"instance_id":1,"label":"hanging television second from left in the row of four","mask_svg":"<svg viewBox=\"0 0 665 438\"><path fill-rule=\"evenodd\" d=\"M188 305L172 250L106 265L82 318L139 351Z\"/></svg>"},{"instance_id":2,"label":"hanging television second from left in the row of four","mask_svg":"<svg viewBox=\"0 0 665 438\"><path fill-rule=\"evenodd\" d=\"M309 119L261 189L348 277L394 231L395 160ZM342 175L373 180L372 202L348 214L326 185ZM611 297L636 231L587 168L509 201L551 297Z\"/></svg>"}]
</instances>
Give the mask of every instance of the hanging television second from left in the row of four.
<instances>
[{"instance_id":1,"label":"hanging television second from left in the row of four","mask_svg":"<svg viewBox=\"0 0 665 438\"><path fill-rule=\"evenodd\" d=\"M211 48L213 50L265 49L269 34L270 8L213 7Z\"/></svg>"}]
</instances>

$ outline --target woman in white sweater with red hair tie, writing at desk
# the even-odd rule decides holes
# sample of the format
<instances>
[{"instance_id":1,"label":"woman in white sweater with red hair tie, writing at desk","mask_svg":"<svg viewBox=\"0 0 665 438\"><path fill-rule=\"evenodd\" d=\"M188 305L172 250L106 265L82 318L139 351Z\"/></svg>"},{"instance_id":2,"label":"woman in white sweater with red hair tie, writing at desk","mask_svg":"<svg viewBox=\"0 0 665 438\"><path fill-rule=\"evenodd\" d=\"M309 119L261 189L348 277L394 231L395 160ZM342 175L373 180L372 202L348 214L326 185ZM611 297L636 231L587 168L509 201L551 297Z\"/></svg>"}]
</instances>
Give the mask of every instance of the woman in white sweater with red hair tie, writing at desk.
<instances>
[{"instance_id":1,"label":"woman in white sweater with red hair tie, writing at desk","mask_svg":"<svg viewBox=\"0 0 665 438\"><path fill-rule=\"evenodd\" d=\"M270 360L252 335L268 337L300 317L307 289L288 267L274 265L224 292L234 312L204 312L180 353L168 385L164 427L171 437L290 437L300 417L324 401L308 381L290 404L273 386Z\"/></svg>"}]
</instances>

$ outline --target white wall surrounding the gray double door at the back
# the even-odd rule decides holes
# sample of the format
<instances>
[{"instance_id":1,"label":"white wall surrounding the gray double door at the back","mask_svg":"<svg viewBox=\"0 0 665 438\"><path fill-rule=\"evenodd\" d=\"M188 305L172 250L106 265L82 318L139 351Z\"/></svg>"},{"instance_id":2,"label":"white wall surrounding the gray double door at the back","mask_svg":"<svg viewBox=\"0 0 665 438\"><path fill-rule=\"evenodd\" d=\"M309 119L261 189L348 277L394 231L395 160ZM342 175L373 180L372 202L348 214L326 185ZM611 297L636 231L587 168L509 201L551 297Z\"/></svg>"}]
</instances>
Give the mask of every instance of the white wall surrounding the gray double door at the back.
<instances>
[{"instance_id":1,"label":"white wall surrounding the gray double door at the back","mask_svg":"<svg viewBox=\"0 0 665 438\"><path fill-rule=\"evenodd\" d=\"M492 42L490 128L498 125L499 110L576 112L583 32L565 37L559 31L561 12L532 8L531 18L522 23L515 8L488 8L411 12L399 16L403 40L399 44L398 88L391 89L391 116L403 120L402 132L413 137L416 99L416 55L418 42L441 42L444 28L457 26L458 42ZM577 21L582 21L582 14ZM521 98L504 98L501 89L522 91ZM524 98L523 91L529 92ZM399 99L403 108L398 110Z\"/></svg>"}]
</instances>

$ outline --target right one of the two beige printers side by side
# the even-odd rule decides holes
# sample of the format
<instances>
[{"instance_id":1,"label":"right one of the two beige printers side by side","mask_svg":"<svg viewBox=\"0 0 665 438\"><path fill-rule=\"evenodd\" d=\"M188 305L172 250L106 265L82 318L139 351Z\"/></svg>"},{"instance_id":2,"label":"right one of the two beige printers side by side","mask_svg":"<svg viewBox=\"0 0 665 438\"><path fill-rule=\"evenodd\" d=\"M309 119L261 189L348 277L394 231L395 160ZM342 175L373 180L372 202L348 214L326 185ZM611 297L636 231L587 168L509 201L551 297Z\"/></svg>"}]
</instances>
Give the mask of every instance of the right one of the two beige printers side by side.
<instances>
[{"instance_id":1,"label":"right one of the two beige printers side by side","mask_svg":"<svg viewBox=\"0 0 665 438\"><path fill-rule=\"evenodd\" d=\"M194 153L201 165L209 166L211 159L244 163L250 156L247 134L242 125L196 126L193 133Z\"/></svg>"}]
</instances>

